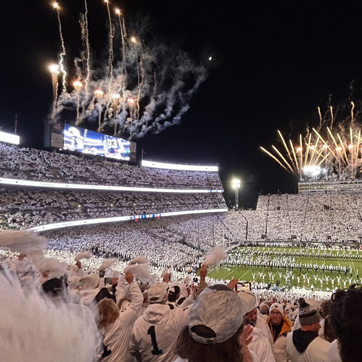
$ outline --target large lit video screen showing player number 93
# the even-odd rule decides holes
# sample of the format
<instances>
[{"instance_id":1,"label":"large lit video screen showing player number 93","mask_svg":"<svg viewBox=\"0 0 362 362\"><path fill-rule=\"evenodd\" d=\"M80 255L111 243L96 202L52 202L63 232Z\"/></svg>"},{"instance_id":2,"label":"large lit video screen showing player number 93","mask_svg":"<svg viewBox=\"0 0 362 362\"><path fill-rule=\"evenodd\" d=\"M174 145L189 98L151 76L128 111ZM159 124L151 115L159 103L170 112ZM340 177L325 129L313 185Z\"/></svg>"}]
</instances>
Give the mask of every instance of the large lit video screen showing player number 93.
<instances>
[{"instance_id":1,"label":"large lit video screen showing player number 93","mask_svg":"<svg viewBox=\"0 0 362 362\"><path fill-rule=\"evenodd\" d=\"M130 141L69 124L64 125L63 149L130 161Z\"/></svg>"}]
</instances>

